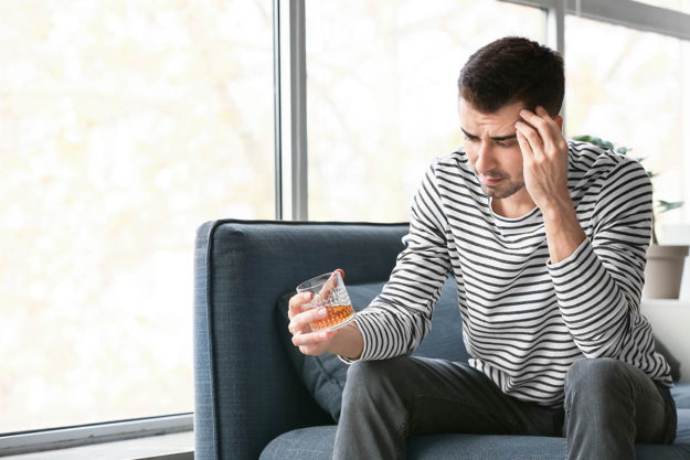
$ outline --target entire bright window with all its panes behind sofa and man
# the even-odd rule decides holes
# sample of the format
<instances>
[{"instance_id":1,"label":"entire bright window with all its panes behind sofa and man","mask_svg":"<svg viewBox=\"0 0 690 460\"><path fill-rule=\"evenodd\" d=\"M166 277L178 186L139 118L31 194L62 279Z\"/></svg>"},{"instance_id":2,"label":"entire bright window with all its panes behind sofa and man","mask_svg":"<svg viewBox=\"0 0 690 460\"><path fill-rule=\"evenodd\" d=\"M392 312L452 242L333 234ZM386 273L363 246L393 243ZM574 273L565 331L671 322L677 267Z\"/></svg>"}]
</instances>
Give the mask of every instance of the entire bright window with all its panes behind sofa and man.
<instances>
[{"instance_id":1,"label":"entire bright window with all its panes behind sofa and man","mask_svg":"<svg viewBox=\"0 0 690 460\"><path fill-rule=\"evenodd\" d=\"M306 25L284 12L302 2ZM566 43L569 135L633 147L658 197L690 203L689 3L275 0L297 32L277 41L306 35L306 100L282 97L308 125L308 162L290 147L278 179L311 220L407 220L460 142L460 66L518 34ZM0 6L0 432L192 410L194 231L276 207L273 7ZM305 69L285 55L277 88Z\"/></svg>"}]
</instances>

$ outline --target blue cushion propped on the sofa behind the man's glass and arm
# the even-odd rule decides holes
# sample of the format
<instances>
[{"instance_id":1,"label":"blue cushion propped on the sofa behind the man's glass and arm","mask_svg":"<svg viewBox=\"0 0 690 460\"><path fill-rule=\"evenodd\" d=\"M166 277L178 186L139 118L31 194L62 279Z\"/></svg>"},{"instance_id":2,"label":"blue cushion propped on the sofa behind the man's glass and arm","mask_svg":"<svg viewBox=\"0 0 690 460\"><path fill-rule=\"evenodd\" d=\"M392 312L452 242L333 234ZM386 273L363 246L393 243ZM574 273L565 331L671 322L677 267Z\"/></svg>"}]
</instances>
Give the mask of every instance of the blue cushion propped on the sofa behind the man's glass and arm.
<instances>
[{"instance_id":1,"label":"blue cushion propped on the sofa behind the man's glass and arm","mask_svg":"<svg viewBox=\"0 0 690 460\"><path fill-rule=\"evenodd\" d=\"M346 285L347 285L346 274ZM382 282L347 286L354 310L365 308L381 292ZM305 356L293 345L291 335L287 330L287 306L294 291L284 295L276 303L278 324L282 328L284 346L290 362L301 378L307 391L333 421L340 418L340 402L347 378L348 365L331 354ZM448 278L440 298L432 315L432 331L424 338L413 353L417 356L440 357L445 360L467 362L469 355L461 339L463 323L457 301L455 280Z\"/></svg>"}]
</instances>

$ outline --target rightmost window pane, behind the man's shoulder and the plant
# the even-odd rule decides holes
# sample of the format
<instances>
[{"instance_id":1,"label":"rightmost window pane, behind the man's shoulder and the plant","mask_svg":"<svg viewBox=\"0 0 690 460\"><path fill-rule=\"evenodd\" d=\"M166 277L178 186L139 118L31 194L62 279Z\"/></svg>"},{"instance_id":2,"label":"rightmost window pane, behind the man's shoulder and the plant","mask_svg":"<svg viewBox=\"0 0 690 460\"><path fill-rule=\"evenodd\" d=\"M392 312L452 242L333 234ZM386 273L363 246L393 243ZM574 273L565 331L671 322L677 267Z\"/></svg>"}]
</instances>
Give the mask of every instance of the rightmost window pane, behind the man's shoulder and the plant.
<instances>
[{"instance_id":1,"label":"rightmost window pane, behind the man's shoulder and the plant","mask_svg":"<svg viewBox=\"0 0 690 460\"><path fill-rule=\"evenodd\" d=\"M687 41L567 17L569 135L594 135L633 148L631 156L644 157L645 167L659 173L656 199L690 203L689 64ZM659 221L690 222L690 205Z\"/></svg>"}]
</instances>

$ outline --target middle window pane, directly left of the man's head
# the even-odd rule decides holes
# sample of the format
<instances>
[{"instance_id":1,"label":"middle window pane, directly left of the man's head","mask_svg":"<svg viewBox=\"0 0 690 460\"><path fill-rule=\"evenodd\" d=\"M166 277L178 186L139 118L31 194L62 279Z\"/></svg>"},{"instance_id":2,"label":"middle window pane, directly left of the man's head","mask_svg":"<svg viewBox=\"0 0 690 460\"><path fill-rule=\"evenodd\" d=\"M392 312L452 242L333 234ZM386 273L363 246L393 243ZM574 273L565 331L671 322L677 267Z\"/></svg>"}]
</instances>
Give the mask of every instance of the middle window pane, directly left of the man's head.
<instances>
[{"instance_id":1,"label":"middle window pane, directly left of the man's head","mask_svg":"<svg viewBox=\"0 0 690 460\"><path fill-rule=\"evenodd\" d=\"M309 218L405 221L434 157L460 143L457 77L544 13L498 1L306 2Z\"/></svg>"}]
</instances>

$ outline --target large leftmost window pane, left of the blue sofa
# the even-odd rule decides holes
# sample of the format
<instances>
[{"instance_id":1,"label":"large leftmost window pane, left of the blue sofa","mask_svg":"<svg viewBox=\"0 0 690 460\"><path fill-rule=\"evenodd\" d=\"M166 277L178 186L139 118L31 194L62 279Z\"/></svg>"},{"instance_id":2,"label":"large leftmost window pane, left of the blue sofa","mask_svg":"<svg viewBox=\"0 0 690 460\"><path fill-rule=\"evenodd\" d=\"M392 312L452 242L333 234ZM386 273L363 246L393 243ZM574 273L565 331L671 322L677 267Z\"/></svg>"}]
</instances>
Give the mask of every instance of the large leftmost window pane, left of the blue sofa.
<instances>
[{"instance_id":1,"label":"large leftmost window pane, left of the blue sofa","mask_svg":"<svg viewBox=\"0 0 690 460\"><path fill-rule=\"evenodd\" d=\"M273 216L272 2L0 9L0 431L191 411L195 228Z\"/></svg>"}]
</instances>

